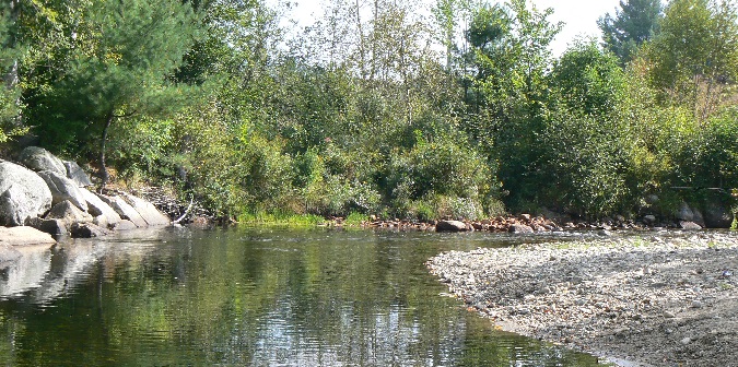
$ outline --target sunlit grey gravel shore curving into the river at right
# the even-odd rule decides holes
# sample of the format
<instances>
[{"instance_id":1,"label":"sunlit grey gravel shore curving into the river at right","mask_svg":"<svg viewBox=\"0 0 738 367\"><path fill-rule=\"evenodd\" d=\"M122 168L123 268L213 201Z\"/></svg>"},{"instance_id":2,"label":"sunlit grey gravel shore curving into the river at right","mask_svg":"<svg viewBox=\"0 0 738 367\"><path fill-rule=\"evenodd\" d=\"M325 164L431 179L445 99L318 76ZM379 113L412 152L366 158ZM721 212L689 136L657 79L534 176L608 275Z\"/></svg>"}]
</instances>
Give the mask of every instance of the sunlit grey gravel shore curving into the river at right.
<instances>
[{"instance_id":1,"label":"sunlit grey gravel shore curving into the river at right","mask_svg":"<svg viewBox=\"0 0 738 367\"><path fill-rule=\"evenodd\" d=\"M452 251L427 267L507 331L628 366L738 366L734 234Z\"/></svg>"}]
</instances>

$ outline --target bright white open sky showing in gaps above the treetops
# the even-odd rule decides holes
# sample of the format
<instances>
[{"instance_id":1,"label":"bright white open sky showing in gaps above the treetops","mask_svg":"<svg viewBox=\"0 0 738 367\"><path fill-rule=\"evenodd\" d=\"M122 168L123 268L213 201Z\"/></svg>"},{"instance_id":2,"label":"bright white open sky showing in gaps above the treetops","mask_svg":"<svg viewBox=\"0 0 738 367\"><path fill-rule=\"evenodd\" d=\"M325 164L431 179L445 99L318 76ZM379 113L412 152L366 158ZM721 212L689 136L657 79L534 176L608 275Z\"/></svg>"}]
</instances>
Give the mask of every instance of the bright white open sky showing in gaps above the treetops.
<instances>
[{"instance_id":1,"label":"bright white open sky showing in gaps above the treetops","mask_svg":"<svg viewBox=\"0 0 738 367\"><path fill-rule=\"evenodd\" d=\"M364 0L366 1L366 0ZM418 0L415 0L418 1ZM420 0L424 3L429 0ZM278 3L280 0L268 0L267 3ZM319 15L321 0L292 0L296 3L293 10L285 14L298 22L300 25L309 25L314 15ZM557 39L551 45L554 56L560 56L569 43L577 36L595 36L599 38L600 32L597 20L605 13L614 13L620 0L532 0L540 10L553 8L552 22L564 22L565 25Z\"/></svg>"}]
</instances>

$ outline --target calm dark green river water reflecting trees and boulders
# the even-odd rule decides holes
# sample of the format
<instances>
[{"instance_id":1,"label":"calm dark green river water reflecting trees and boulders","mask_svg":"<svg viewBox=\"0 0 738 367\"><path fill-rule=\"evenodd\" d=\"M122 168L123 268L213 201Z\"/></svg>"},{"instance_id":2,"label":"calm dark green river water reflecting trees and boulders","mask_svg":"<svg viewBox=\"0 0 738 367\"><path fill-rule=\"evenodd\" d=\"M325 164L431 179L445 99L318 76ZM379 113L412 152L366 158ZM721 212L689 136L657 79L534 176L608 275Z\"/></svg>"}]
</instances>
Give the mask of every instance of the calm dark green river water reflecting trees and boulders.
<instances>
[{"instance_id":1,"label":"calm dark green river water reflecting trees and boulders","mask_svg":"<svg viewBox=\"0 0 738 367\"><path fill-rule=\"evenodd\" d=\"M423 264L509 244L481 233L165 228L26 248L0 271L0 365L599 365L495 331L443 296Z\"/></svg>"}]
</instances>

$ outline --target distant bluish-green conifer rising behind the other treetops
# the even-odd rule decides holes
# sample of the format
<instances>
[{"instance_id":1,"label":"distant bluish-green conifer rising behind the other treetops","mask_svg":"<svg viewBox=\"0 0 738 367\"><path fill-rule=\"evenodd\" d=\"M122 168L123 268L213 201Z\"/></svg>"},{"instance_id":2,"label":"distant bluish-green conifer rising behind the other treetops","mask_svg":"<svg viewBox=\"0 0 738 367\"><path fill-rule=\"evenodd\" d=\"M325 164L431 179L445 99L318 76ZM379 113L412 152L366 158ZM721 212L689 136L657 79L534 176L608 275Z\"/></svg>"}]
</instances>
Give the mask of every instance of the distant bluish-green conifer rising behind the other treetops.
<instances>
[{"instance_id":1,"label":"distant bluish-green conifer rising behind the other treetops","mask_svg":"<svg viewBox=\"0 0 738 367\"><path fill-rule=\"evenodd\" d=\"M635 50L658 32L661 0L621 0L616 15L609 13L597 21L607 49L622 63L633 58Z\"/></svg>"}]
</instances>

